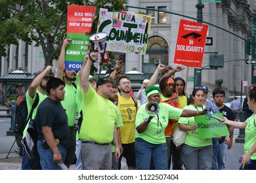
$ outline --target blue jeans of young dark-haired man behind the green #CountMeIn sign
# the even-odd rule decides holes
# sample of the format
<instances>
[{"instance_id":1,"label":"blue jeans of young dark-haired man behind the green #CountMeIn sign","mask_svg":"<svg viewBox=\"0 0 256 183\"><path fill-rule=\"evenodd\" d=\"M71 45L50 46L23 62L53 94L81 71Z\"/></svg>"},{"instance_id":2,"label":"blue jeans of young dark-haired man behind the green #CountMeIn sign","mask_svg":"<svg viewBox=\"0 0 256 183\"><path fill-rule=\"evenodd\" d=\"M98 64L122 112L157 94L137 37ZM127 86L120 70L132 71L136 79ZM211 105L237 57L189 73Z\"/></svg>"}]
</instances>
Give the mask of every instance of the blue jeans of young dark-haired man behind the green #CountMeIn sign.
<instances>
[{"instance_id":1,"label":"blue jeans of young dark-haired man behind the green #CountMeIn sign","mask_svg":"<svg viewBox=\"0 0 256 183\"><path fill-rule=\"evenodd\" d=\"M219 144L219 141L213 141L213 170L226 169L226 152L228 151L228 144L225 142Z\"/></svg>"}]
</instances>

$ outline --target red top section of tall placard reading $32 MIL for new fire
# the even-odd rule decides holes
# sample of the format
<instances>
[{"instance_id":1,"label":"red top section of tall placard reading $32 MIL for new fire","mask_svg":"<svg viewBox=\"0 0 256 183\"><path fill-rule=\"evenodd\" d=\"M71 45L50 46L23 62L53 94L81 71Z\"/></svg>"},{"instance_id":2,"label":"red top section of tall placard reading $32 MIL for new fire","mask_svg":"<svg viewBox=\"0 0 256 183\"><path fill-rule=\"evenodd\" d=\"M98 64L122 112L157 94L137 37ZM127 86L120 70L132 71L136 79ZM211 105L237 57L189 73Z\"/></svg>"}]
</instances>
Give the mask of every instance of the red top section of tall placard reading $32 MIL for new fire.
<instances>
[{"instance_id":1,"label":"red top section of tall placard reading $32 MIL for new fire","mask_svg":"<svg viewBox=\"0 0 256 183\"><path fill-rule=\"evenodd\" d=\"M67 32L89 35L93 25L95 9L96 7L69 5Z\"/></svg>"}]
</instances>

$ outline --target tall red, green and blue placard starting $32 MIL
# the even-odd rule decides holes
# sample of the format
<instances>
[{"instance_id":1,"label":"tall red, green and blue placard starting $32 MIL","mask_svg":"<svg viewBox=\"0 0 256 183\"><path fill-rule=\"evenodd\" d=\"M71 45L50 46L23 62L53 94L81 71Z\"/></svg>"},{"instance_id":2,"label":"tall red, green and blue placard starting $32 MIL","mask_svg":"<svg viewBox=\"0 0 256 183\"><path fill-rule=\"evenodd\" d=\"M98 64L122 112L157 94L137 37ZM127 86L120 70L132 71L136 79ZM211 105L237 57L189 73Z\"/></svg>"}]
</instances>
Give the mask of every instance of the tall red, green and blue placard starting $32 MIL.
<instances>
[{"instance_id":1,"label":"tall red, green and blue placard starting $32 MIL","mask_svg":"<svg viewBox=\"0 0 256 183\"><path fill-rule=\"evenodd\" d=\"M91 27L96 7L68 5L67 35L70 46L66 48L65 69L79 71L87 54Z\"/></svg>"}]
</instances>

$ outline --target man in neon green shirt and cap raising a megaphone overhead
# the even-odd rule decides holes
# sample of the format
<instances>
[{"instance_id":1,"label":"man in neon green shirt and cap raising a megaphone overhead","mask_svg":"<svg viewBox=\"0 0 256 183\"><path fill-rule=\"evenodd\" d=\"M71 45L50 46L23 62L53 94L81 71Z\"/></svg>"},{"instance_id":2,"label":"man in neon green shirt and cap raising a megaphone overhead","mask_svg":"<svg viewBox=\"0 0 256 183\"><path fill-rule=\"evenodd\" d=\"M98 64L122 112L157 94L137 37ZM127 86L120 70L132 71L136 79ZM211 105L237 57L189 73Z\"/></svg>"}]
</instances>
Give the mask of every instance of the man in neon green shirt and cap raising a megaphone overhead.
<instances>
[{"instance_id":1,"label":"man in neon green shirt and cap raising a megaphone overhead","mask_svg":"<svg viewBox=\"0 0 256 183\"><path fill-rule=\"evenodd\" d=\"M92 53L91 58L98 58L98 53ZM110 170L112 167L111 142L114 139L114 127L118 111L114 103L108 100L112 86L116 83L108 77L98 78L96 91L88 81L93 61L88 59L81 76L82 111L80 139L81 161L83 169Z\"/></svg>"}]
</instances>

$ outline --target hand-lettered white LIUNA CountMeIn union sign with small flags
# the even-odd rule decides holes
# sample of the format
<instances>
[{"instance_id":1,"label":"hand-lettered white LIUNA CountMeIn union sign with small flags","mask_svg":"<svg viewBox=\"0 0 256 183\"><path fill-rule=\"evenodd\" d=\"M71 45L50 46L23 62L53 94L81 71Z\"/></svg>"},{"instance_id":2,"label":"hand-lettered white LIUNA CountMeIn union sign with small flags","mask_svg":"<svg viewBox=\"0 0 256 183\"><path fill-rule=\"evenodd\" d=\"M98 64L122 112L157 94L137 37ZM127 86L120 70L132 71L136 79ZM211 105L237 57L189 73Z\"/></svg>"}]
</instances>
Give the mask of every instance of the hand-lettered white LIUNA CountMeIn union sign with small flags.
<instances>
[{"instance_id":1,"label":"hand-lettered white LIUNA CountMeIn union sign with small flags","mask_svg":"<svg viewBox=\"0 0 256 183\"><path fill-rule=\"evenodd\" d=\"M97 32L105 32L106 50L145 54L152 17L133 12L109 12L100 8Z\"/></svg>"}]
</instances>

